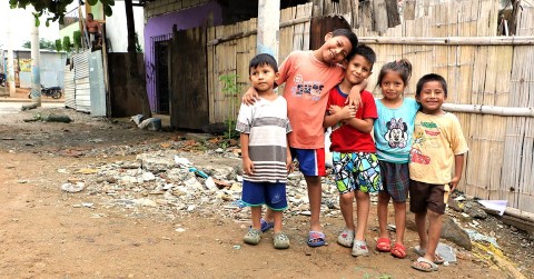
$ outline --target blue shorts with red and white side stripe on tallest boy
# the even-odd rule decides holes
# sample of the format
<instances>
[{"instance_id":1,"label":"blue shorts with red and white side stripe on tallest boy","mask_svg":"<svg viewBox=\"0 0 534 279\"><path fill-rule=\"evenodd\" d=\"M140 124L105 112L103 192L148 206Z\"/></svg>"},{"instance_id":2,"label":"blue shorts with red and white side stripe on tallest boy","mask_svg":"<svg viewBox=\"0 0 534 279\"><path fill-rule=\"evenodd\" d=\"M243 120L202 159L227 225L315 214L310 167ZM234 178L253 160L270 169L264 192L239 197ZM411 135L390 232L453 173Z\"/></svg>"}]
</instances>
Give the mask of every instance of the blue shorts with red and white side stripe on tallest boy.
<instances>
[{"instance_id":1,"label":"blue shorts with red and white side stripe on tallest boy","mask_svg":"<svg viewBox=\"0 0 534 279\"><path fill-rule=\"evenodd\" d=\"M325 149L291 148L293 159L297 158L298 168L306 177L326 176Z\"/></svg>"}]
</instances>

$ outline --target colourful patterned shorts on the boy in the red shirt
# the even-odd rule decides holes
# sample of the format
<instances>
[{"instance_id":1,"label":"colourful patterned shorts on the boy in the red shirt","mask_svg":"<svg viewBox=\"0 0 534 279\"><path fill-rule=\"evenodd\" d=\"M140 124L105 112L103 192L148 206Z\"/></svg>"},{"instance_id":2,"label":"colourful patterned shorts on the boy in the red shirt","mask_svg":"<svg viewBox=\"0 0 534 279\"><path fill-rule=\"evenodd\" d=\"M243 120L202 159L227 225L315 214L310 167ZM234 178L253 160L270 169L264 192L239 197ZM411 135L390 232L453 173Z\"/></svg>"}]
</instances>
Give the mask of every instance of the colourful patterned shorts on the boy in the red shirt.
<instances>
[{"instance_id":1,"label":"colourful patterned shorts on the boy in the red shirt","mask_svg":"<svg viewBox=\"0 0 534 279\"><path fill-rule=\"evenodd\" d=\"M382 190L380 167L375 153L334 151L333 162L339 193L354 190L363 192Z\"/></svg>"}]
</instances>

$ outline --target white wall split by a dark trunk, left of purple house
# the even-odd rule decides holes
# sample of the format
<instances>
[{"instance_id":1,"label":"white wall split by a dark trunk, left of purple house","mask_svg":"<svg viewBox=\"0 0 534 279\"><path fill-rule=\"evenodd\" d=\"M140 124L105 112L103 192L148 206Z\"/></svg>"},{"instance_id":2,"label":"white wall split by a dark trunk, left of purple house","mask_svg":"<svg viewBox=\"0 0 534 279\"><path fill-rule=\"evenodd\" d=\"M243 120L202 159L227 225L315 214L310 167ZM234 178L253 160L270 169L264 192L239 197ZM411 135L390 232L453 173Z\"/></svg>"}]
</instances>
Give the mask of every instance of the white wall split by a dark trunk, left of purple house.
<instances>
[{"instance_id":1,"label":"white wall split by a dark trunk, left of purple house","mask_svg":"<svg viewBox=\"0 0 534 279\"><path fill-rule=\"evenodd\" d=\"M136 32L141 48L145 47L145 14L142 7L134 7ZM115 1L113 16L106 18L106 31L111 42L112 52L128 51L128 30L126 28L125 2Z\"/></svg>"}]
</instances>

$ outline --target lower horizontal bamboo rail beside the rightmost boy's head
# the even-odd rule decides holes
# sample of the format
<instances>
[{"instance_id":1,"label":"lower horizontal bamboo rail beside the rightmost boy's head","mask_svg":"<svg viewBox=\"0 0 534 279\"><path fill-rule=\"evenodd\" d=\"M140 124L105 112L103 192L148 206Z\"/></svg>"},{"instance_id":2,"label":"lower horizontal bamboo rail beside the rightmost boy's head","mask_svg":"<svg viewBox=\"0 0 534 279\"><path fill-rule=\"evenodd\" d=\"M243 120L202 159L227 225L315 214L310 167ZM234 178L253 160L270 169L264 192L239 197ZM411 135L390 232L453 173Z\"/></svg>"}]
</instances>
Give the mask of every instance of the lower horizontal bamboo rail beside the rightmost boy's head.
<instances>
[{"instance_id":1,"label":"lower horizontal bamboo rail beside the rightmost boy's head","mask_svg":"<svg viewBox=\"0 0 534 279\"><path fill-rule=\"evenodd\" d=\"M534 108L512 108L485 104L444 103L443 109L451 112L466 112L501 117L534 117Z\"/></svg>"}]
</instances>

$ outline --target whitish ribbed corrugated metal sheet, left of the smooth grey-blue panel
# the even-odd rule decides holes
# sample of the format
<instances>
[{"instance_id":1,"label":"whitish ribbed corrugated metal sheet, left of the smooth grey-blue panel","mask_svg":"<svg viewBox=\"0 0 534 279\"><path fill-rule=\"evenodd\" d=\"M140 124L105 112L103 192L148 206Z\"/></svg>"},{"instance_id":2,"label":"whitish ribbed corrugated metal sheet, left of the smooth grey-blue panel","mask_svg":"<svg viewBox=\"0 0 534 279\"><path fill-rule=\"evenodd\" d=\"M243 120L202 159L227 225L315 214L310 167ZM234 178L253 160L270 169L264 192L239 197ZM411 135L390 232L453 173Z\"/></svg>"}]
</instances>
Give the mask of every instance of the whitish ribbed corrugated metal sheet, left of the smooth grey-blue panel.
<instances>
[{"instance_id":1,"label":"whitish ribbed corrugated metal sheet, left of the smooth grey-blue panel","mask_svg":"<svg viewBox=\"0 0 534 279\"><path fill-rule=\"evenodd\" d=\"M72 56L75 63L76 110L91 112L91 87L89 82L89 50Z\"/></svg>"}]
</instances>

